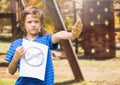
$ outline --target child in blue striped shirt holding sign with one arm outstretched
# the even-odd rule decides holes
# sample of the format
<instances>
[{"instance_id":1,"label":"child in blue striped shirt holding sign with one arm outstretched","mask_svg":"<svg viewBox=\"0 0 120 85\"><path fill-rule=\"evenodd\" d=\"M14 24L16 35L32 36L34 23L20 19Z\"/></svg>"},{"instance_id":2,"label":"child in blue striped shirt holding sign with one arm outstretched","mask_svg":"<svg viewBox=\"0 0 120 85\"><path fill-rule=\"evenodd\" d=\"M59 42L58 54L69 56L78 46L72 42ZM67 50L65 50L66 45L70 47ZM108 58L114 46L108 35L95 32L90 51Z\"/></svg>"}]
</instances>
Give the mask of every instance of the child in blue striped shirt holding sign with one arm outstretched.
<instances>
[{"instance_id":1,"label":"child in blue striped shirt holding sign with one arm outstretched","mask_svg":"<svg viewBox=\"0 0 120 85\"><path fill-rule=\"evenodd\" d=\"M81 33L82 23L78 20L71 32L46 34L42 10L30 6L21 15L21 27L26 37L12 42L5 58L9 62L10 74L14 74L17 68L20 71L15 85L54 85L50 50L57 49L61 39L77 38Z\"/></svg>"}]
</instances>

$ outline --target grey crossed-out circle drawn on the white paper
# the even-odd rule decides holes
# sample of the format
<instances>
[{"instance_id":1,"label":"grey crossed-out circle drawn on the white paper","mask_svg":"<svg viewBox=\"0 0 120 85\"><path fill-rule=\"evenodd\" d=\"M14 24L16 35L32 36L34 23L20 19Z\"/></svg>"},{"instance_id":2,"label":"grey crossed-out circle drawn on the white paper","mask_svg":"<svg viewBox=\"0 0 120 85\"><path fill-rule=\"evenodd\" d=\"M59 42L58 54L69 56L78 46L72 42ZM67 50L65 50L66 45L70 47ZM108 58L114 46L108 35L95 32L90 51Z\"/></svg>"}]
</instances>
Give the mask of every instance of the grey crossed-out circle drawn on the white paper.
<instances>
[{"instance_id":1,"label":"grey crossed-out circle drawn on the white paper","mask_svg":"<svg viewBox=\"0 0 120 85\"><path fill-rule=\"evenodd\" d=\"M25 62L33 67L39 67L44 62L43 51L38 47L29 47L24 56Z\"/></svg>"}]
</instances>

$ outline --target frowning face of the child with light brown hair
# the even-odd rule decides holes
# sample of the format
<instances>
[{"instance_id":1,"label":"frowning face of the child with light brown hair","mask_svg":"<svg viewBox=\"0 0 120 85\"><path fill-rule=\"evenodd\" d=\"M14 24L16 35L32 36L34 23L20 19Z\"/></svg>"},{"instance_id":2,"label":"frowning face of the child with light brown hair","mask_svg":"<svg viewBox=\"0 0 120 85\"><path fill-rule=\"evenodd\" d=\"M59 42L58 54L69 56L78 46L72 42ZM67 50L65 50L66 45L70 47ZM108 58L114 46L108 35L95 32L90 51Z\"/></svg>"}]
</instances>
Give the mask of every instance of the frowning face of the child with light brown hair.
<instances>
[{"instance_id":1,"label":"frowning face of the child with light brown hair","mask_svg":"<svg viewBox=\"0 0 120 85\"><path fill-rule=\"evenodd\" d=\"M37 14L28 14L25 18L27 36L37 36L41 30L41 23Z\"/></svg>"}]
</instances>

